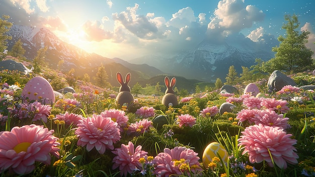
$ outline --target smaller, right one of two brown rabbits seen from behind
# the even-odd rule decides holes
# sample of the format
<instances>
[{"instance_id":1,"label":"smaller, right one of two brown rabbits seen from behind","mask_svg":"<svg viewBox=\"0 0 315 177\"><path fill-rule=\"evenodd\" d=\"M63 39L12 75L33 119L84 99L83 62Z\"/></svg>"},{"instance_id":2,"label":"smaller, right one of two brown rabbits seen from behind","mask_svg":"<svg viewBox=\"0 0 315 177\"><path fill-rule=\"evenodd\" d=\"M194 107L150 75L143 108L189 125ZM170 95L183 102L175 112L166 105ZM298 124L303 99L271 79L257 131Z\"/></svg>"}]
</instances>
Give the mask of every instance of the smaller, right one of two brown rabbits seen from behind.
<instances>
[{"instance_id":1,"label":"smaller, right one of two brown rabbits seen from behind","mask_svg":"<svg viewBox=\"0 0 315 177\"><path fill-rule=\"evenodd\" d=\"M164 81L167 89L165 91L165 95L163 96L162 104L164 104L166 107L178 105L178 100L173 90L173 87L176 84L176 78L172 78L170 82L170 79L165 77Z\"/></svg>"}]
</instances>

